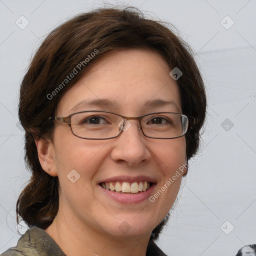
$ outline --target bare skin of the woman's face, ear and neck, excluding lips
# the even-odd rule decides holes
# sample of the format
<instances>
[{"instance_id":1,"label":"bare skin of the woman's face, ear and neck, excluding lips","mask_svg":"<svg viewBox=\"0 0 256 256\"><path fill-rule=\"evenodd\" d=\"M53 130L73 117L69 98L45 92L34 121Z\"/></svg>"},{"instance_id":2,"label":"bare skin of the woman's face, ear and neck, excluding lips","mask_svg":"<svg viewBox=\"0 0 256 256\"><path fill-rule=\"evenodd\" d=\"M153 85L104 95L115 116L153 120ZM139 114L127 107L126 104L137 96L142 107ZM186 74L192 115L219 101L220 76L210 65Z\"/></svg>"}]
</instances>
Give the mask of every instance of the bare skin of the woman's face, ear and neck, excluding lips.
<instances>
[{"instance_id":1,"label":"bare skin of the woman's face, ear and neck, excluding lips","mask_svg":"<svg viewBox=\"0 0 256 256\"><path fill-rule=\"evenodd\" d=\"M150 112L181 113L178 85L170 67L154 51L126 49L110 52L88 67L84 76L62 96L56 116L83 110L108 110L126 116ZM84 99L108 98L116 106L81 106ZM174 104L144 106L146 100L160 98ZM74 136L70 127L55 121L52 140L37 140L42 168L58 176L59 210L45 231L67 256L145 255L153 228L171 208L181 182L177 179L154 201L122 204L104 195L99 180L116 175L149 175L156 179L155 193L186 162L185 137L153 139L138 129L137 120L118 137L88 140ZM48 171L48 168L51 170ZM80 178L72 183L67 174L75 169ZM185 171L184 171L185 173ZM118 226L126 221L130 230Z\"/></svg>"}]
</instances>

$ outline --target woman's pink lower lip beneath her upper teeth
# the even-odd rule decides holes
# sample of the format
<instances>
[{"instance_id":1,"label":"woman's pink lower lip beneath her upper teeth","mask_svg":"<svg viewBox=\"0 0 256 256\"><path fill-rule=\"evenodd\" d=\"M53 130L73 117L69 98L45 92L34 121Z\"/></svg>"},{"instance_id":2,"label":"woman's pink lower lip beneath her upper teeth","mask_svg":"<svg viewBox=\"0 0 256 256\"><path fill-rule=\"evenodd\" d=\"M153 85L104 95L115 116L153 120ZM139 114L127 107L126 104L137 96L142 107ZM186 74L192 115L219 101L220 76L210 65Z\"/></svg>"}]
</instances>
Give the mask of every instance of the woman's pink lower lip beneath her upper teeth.
<instances>
[{"instance_id":1,"label":"woman's pink lower lip beneath her upper teeth","mask_svg":"<svg viewBox=\"0 0 256 256\"><path fill-rule=\"evenodd\" d=\"M125 193L118 193L115 191L111 191L108 189L103 188L101 185L99 185L102 191L112 198L113 200L120 202L120 203L139 203L149 198L151 195L155 184L152 184L146 191L137 193L137 194L125 194Z\"/></svg>"}]
</instances>

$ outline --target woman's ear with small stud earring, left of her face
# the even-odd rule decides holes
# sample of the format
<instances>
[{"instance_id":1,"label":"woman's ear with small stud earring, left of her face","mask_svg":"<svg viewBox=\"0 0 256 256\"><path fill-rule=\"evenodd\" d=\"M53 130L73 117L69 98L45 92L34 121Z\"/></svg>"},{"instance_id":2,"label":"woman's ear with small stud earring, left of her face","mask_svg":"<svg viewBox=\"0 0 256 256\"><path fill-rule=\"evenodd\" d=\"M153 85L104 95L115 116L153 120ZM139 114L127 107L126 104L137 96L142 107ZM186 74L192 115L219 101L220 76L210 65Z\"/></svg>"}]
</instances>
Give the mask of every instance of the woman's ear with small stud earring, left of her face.
<instances>
[{"instance_id":1,"label":"woman's ear with small stud earring, left of her face","mask_svg":"<svg viewBox=\"0 0 256 256\"><path fill-rule=\"evenodd\" d=\"M42 169L51 176L57 176L54 147L50 139L34 139Z\"/></svg>"}]
</instances>

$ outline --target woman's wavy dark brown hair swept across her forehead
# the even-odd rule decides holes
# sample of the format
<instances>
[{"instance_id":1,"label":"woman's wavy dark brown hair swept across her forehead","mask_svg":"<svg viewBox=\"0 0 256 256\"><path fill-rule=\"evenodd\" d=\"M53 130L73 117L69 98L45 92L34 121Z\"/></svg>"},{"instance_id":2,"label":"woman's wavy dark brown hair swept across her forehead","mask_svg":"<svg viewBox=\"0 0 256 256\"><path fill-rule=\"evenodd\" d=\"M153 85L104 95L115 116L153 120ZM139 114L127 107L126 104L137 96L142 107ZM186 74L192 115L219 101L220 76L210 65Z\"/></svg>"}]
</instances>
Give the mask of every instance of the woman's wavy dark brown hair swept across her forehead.
<instances>
[{"instance_id":1,"label":"woman's wavy dark brown hair swept across her forehead","mask_svg":"<svg viewBox=\"0 0 256 256\"><path fill-rule=\"evenodd\" d=\"M178 67L182 71L177 80L182 113L196 118L193 129L185 134L187 159L196 153L199 130L205 118L204 85L189 46L168 25L144 18L133 7L99 8L74 16L44 39L20 86L18 115L25 130L25 161L32 175L16 203L17 221L19 215L28 226L45 229L56 216L58 178L41 168L34 138L51 137L54 126L48 117L54 115L61 95L83 75L87 65L107 52L150 48L158 52L170 68ZM77 70L79 64L81 68ZM65 80L74 69L78 73ZM148 246L158 238L167 219L168 215L153 229Z\"/></svg>"}]
</instances>

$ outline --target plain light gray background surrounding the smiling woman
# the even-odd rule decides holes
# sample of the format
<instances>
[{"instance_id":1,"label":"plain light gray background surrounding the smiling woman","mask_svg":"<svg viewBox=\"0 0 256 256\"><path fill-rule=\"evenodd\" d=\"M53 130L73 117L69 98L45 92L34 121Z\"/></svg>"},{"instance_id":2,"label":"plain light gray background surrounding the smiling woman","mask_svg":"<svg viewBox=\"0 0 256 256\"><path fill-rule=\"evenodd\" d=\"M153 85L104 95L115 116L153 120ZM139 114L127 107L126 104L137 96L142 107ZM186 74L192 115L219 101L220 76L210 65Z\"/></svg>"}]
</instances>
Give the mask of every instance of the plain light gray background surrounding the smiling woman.
<instances>
[{"instance_id":1,"label":"plain light gray background surrounding the smiling woman","mask_svg":"<svg viewBox=\"0 0 256 256\"><path fill-rule=\"evenodd\" d=\"M124 3L177 27L196 53L208 95L201 155L183 180L158 245L168 255L235 255L244 244L256 243L256 0ZM15 203L29 178L23 131L16 126L22 76L45 34L99 5L103 1L0 0L0 252L19 238ZM15 24L21 15L29 21L24 29ZM222 25L232 22L226 15L234 21L229 29Z\"/></svg>"}]
</instances>

